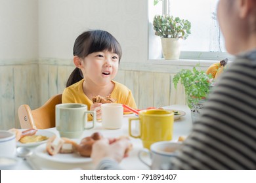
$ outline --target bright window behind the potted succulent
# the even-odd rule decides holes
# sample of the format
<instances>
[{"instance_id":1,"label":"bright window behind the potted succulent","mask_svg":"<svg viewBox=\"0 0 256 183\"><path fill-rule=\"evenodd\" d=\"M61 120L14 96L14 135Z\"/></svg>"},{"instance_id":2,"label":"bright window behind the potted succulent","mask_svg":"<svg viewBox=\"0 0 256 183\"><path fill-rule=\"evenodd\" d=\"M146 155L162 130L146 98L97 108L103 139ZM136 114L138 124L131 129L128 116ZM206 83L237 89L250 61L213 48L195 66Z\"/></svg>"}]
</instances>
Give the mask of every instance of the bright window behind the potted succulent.
<instances>
[{"instance_id":1,"label":"bright window behind the potted succulent","mask_svg":"<svg viewBox=\"0 0 256 183\"><path fill-rule=\"evenodd\" d=\"M155 0L156 1L156 0ZM156 14L169 13L191 22L191 34L181 41L181 59L223 59L232 58L226 53L224 39L217 22L219 0L154 0L148 1L148 58L161 58L161 40L154 35L152 25Z\"/></svg>"}]
</instances>

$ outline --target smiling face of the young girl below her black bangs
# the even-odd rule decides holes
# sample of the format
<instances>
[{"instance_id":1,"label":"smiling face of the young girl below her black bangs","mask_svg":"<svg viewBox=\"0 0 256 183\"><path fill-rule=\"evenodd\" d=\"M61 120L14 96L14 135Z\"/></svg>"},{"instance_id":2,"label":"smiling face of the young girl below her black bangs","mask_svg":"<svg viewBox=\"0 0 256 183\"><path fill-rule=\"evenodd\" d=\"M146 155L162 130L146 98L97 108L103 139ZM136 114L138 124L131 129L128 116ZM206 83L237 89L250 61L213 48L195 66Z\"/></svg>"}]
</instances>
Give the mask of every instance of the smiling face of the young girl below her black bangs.
<instances>
[{"instance_id":1,"label":"smiling face of the young girl below her black bangs","mask_svg":"<svg viewBox=\"0 0 256 183\"><path fill-rule=\"evenodd\" d=\"M102 86L109 84L116 76L119 67L119 56L107 50L93 52L83 59L82 65L85 81Z\"/></svg>"}]
</instances>

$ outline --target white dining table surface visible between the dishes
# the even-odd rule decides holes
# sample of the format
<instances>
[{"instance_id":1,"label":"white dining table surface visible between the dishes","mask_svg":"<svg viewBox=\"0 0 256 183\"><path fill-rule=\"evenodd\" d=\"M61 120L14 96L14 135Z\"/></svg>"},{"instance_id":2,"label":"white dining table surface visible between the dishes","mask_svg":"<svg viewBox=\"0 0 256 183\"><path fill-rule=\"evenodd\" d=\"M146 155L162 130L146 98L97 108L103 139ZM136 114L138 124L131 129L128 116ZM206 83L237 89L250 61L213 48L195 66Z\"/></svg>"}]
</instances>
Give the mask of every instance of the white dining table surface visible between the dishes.
<instances>
[{"instance_id":1,"label":"white dining table surface visible between the dishes","mask_svg":"<svg viewBox=\"0 0 256 183\"><path fill-rule=\"evenodd\" d=\"M173 125L173 139L172 141L177 141L180 136L189 135L192 129L192 120L190 109L186 105L171 105L163 107L164 109L182 110L186 112L185 116L182 116L179 120L175 120ZM104 129L100 122L96 122L93 129L83 131L83 137L88 137L95 132L100 132L104 137L120 137L129 136L129 118L135 117L135 114L126 114L123 116L123 126L121 129ZM136 124L136 122L135 122ZM136 126L136 125L135 125ZM59 136L58 131L54 128L46 129L47 131L52 131L57 136ZM147 170L149 169L144 163L138 158L138 153L143 149L142 141L140 139L135 139L130 137L131 143L133 144L133 149L130 151L129 156L121 161L120 166L122 169L130 170ZM30 150L35 151L36 146L29 147ZM150 158L148 157L148 161ZM14 169L95 169L93 163L60 163L56 161L50 161L48 159L43 159L37 156L35 153L28 159L20 158L20 163L14 167Z\"/></svg>"}]
</instances>

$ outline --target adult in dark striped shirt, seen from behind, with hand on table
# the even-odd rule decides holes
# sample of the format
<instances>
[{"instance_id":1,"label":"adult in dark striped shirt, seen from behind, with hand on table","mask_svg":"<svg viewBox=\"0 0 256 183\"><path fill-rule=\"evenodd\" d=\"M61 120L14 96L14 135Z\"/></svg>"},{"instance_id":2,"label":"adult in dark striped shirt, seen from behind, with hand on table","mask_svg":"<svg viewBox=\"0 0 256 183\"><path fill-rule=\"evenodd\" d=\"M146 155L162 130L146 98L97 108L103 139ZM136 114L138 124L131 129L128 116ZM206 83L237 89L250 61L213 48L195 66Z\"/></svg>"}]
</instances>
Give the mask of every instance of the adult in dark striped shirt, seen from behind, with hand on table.
<instances>
[{"instance_id":1,"label":"adult in dark striped shirt, seen from behind, with hand on table","mask_svg":"<svg viewBox=\"0 0 256 183\"><path fill-rule=\"evenodd\" d=\"M217 15L226 50L236 59L220 76L171 169L256 169L256 0L220 0ZM98 169L119 169L128 143L96 142L92 158Z\"/></svg>"}]
</instances>

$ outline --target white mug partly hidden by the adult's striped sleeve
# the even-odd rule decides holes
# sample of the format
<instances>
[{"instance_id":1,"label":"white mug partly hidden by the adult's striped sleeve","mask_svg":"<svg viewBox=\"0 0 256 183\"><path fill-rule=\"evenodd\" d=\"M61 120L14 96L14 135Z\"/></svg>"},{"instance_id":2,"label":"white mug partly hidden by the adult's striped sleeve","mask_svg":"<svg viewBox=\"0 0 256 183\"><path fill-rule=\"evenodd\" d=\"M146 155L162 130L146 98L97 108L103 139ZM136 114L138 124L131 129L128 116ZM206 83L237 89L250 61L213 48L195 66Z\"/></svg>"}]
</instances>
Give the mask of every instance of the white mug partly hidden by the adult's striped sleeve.
<instances>
[{"instance_id":1,"label":"white mug partly hidden by the adult's striped sleeve","mask_svg":"<svg viewBox=\"0 0 256 183\"><path fill-rule=\"evenodd\" d=\"M170 169L170 161L177 156L176 151L181 148L181 145L181 142L156 142L150 146L150 151L148 149L140 150L138 156L140 161L152 170ZM150 156L151 163L146 161L148 156Z\"/></svg>"}]
</instances>

